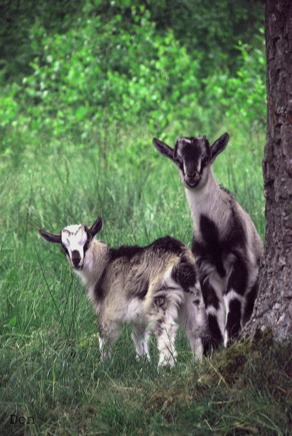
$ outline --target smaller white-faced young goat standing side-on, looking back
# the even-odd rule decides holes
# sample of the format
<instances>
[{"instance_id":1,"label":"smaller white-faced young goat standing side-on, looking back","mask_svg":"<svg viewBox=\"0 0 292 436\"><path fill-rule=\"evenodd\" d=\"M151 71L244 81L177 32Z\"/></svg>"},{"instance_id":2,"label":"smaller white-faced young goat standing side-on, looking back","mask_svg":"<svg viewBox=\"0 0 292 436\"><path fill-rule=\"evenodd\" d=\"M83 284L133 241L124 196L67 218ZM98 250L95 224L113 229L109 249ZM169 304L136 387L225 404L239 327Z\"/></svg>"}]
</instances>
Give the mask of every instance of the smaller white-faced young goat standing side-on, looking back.
<instances>
[{"instance_id":1,"label":"smaller white-faced young goat standing side-on, looking back","mask_svg":"<svg viewBox=\"0 0 292 436\"><path fill-rule=\"evenodd\" d=\"M102 358L118 338L119 325L128 322L138 357L149 357L147 341L153 330L159 364L173 366L178 318L200 359L206 315L191 250L170 236L146 247L110 248L95 239L102 226L97 218L90 228L71 225L57 235L39 230L46 241L61 244L87 288L98 315Z\"/></svg>"}]
</instances>

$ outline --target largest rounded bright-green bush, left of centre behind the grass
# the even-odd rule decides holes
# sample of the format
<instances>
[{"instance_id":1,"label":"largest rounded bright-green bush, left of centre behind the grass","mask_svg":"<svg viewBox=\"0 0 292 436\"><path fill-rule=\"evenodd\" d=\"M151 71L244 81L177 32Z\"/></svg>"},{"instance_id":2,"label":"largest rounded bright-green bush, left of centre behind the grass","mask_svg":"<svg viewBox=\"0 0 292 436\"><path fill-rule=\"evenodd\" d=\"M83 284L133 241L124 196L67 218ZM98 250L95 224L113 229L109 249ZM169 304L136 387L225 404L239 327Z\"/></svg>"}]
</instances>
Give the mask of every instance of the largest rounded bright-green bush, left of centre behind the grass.
<instances>
[{"instance_id":1,"label":"largest rounded bright-green bush, left of centre behind the grass","mask_svg":"<svg viewBox=\"0 0 292 436\"><path fill-rule=\"evenodd\" d=\"M125 119L134 125L141 116L160 131L173 108L181 124L194 117L198 63L171 30L163 37L155 32L143 7L132 13L136 24L127 32L121 15L108 23L99 16L88 18L85 26L79 21L63 35L50 36L34 26L32 44L41 55L23 86L24 104L38 128L56 137L86 138L93 126Z\"/></svg>"}]
</instances>

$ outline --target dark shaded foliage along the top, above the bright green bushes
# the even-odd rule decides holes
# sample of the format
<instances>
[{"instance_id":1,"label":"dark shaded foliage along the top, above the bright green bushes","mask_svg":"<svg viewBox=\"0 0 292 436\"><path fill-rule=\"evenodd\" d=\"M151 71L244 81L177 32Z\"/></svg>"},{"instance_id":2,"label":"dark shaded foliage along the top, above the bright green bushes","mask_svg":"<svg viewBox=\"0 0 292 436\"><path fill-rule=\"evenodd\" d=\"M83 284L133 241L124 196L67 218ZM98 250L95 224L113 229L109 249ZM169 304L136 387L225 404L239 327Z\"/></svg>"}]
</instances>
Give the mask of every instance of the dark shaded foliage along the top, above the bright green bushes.
<instances>
[{"instance_id":1,"label":"dark shaded foliage along the top, above the bright green bushes","mask_svg":"<svg viewBox=\"0 0 292 436\"><path fill-rule=\"evenodd\" d=\"M261 0L2 0L0 14L0 68L3 83L31 73L30 61L39 51L30 42L37 21L49 34L65 34L80 19L100 16L107 23L122 16L126 32L135 24L133 11L147 8L161 36L172 29L175 39L200 63L200 78L212 71L239 67L235 46L239 40L257 47L254 33L264 23ZM198 57L199 55L199 57Z\"/></svg>"}]
</instances>

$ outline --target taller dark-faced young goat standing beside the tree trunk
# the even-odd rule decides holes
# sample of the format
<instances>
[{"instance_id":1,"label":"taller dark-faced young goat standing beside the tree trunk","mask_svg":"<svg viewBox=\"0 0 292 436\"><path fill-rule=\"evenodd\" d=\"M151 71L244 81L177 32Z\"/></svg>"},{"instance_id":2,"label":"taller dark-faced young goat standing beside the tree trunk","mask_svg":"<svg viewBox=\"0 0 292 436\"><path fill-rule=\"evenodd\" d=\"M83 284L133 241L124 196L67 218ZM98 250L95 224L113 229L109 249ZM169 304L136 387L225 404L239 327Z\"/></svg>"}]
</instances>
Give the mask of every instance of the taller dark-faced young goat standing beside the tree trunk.
<instances>
[{"instance_id":1,"label":"taller dark-faced young goat standing beside the tree trunk","mask_svg":"<svg viewBox=\"0 0 292 436\"><path fill-rule=\"evenodd\" d=\"M229 140L210 146L206 136L178 138L174 149L153 139L179 169L194 221L192 251L205 302L210 343L236 338L250 318L258 290L262 244L249 215L215 180L211 165ZM224 306L226 323L224 328Z\"/></svg>"}]
</instances>

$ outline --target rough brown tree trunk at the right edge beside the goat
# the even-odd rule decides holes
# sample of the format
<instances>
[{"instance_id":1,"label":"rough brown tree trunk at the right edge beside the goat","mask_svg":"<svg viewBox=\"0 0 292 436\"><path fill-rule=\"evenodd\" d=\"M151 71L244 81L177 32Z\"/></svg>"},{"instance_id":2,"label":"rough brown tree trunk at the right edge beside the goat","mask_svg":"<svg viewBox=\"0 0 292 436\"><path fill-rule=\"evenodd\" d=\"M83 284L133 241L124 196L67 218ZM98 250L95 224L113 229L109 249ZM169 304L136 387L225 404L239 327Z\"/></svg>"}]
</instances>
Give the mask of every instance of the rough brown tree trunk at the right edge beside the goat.
<instances>
[{"instance_id":1,"label":"rough brown tree trunk at the right edge beside the goat","mask_svg":"<svg viewBox=\"0 0 292 436\"><path fill-rule=\"evenodd\" d=\"M268 130L263 160L266 236L254 313L243 329L292 336L292 0L266 0Z\"/></svg>"}]
</instances>

